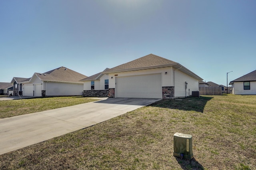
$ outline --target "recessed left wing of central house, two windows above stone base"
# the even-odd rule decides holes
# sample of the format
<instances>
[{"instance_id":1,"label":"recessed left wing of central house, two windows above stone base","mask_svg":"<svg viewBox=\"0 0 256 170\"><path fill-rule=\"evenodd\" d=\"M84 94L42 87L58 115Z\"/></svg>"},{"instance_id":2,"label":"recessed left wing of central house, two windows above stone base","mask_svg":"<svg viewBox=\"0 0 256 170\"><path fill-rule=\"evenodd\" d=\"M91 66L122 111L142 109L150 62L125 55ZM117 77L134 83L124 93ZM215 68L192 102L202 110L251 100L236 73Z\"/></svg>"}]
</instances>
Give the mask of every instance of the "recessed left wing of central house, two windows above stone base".
<instances>
[{"instance_id":1,"label":"recessed left wing of central house, two windows above stone base","mask_svg":"<svg viewBox=\"0 0 256 170\"><path fill-rule=\"evenodd\" d=\"M107 71L108 69L109 68L106 68L104 71ZM100 72L80 80L84 81L84 96L107 97L108 79L108 74Z\"/></svg>"}]
</instances>

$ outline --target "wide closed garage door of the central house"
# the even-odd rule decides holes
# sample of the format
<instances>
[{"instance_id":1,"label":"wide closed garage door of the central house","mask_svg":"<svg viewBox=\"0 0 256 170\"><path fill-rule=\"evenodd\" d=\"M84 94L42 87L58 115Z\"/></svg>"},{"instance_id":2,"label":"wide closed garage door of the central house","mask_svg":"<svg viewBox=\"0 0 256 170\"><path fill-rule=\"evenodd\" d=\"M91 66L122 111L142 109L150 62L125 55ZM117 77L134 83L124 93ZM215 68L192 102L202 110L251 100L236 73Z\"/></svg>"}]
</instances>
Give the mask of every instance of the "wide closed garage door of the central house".
<instances>
[{"instance_id":1,"label":"wide closed garage door of the central house","mask_svg":"<svg viewBox=\"0 0 256 170\"><path fill-rule=\"evenodd\" d=\"M116 97L162 99L161 74L116 77Z\"/></svg>"}]
</instances>

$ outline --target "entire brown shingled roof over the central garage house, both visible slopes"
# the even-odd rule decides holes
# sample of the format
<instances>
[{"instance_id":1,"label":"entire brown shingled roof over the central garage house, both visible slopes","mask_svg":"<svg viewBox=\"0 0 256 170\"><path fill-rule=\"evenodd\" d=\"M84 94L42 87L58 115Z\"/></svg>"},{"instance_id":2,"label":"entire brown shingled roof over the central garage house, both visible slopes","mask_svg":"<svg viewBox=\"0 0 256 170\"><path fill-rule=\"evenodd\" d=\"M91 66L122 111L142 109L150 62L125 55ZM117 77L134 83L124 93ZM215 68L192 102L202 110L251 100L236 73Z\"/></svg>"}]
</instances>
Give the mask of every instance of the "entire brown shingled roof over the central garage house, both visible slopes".
<instances>
[{"instance_id":1,"label":"entire brown shingled roof over the central garage house, both visible slopes","mask_svg":"<svg viewBox=\"0 0 256 170\"><path fill-rule=\"evenodd\" d=\"M179 63L171 61L169 59L149 54L144 57L140 57L128 63L124 63L122 65L118 65L107 71L102 73L115 73L115 72L124 72L124 71L138 71L143 69L152 69L152 68L164 68L164 67L174 67L175 69L179 69L180 71L198 79L202 80L201 77L193 73L192 71L188 70L186 67L182 66Z\"/></svg>"}]
</instances>

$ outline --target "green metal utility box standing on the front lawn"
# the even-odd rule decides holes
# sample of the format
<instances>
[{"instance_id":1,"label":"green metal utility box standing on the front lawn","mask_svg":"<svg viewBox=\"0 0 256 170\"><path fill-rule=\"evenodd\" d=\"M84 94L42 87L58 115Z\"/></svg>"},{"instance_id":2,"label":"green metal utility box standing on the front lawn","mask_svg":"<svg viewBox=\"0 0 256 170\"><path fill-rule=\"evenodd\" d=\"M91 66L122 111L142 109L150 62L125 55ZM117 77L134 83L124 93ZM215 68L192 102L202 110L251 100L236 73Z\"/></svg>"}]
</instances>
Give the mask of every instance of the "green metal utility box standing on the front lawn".
<instances>
[{"instance_id":1,"label":"green metal utility box standing on the front lawn","mask_svg":"<svg viewBox=\"0 0 256 170\"><path fill-rule=\"evenodd\" d=\"M175 133L173 136L173 156L192 159L192 135Z\"/></svg>"}]
</instances>

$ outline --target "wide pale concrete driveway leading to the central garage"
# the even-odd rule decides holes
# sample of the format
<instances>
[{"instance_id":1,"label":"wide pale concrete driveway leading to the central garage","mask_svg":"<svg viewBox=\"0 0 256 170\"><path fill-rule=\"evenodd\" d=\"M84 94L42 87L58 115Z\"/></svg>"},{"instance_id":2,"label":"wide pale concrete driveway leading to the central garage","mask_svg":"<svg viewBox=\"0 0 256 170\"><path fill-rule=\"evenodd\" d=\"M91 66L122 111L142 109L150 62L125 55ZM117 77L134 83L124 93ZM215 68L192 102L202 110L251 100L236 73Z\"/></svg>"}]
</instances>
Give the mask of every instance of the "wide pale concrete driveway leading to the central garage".
<instances>
[{"instance_id":1,"label":"wide pale concrete driveway leading to the central garage","mask_svg":"<svg viewBox=\"0 0 256 170\"><path fill-rule=\"evenodd\" d=\"M90 127L160 100L99 99L101 101L0 119L0 154Z\"/></svg>"}]
</instances>

